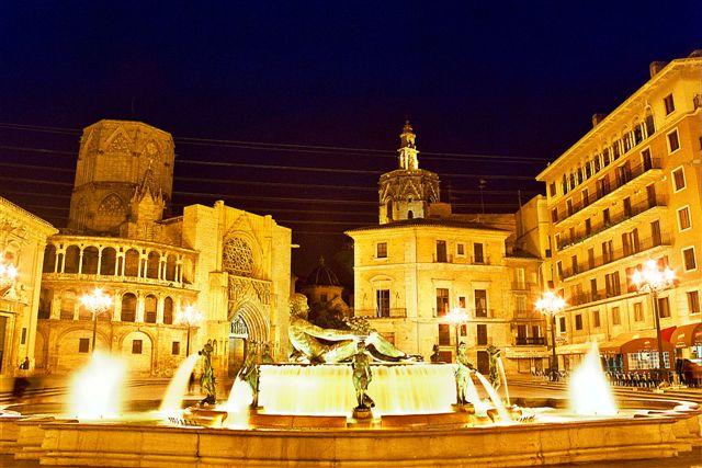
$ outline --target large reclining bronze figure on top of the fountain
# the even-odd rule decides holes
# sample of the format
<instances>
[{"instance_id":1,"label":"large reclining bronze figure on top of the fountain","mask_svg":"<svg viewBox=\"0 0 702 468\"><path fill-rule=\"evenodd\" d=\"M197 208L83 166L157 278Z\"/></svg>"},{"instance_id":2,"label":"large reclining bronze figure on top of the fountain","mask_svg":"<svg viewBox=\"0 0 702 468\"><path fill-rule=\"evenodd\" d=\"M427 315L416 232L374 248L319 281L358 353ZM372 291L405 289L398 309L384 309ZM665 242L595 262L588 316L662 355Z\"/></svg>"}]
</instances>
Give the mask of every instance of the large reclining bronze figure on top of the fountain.
<instances>
[{"instance_id":1,"label":"large reclining bronze figure on top of the fountain","mask_svg":"<svg viewBox=\"0 0 702 468\"><path fill-rule=\"evenodd\" d=\"M373 345L378 361L412 361L411 356L396 349L392 343L370 328L361 330L324 329L307 320L307 298L295 294L290 299L290 326L287 334L295 350L292 358L313 364L331 364L351 361L356 353L356 342Z\"/></svg>"}]
</instances>

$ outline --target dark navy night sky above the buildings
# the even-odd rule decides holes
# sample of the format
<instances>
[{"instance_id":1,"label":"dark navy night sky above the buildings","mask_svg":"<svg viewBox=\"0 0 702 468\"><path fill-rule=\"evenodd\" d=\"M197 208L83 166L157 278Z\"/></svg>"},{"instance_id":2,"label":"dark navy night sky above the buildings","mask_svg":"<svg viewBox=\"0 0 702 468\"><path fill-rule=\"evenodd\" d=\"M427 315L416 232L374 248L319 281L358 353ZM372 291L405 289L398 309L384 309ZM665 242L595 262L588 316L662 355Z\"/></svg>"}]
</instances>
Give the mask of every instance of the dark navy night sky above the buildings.
<instances>
[{"instance_id":1,"label":"dark navy night sky above the buildings","mask_svg":"<svg viewBox=\"0 0 702 468\"><path fill-rule=\"evenodd\" d=\"M176 139L174 215L271 214L306 274L377 221L406 116L443 201L478 212L483 176L513 212L701 25L699 1L0 2L0 194L63 227L80 129L139 119Z\"/></svg>"}]
</instances>

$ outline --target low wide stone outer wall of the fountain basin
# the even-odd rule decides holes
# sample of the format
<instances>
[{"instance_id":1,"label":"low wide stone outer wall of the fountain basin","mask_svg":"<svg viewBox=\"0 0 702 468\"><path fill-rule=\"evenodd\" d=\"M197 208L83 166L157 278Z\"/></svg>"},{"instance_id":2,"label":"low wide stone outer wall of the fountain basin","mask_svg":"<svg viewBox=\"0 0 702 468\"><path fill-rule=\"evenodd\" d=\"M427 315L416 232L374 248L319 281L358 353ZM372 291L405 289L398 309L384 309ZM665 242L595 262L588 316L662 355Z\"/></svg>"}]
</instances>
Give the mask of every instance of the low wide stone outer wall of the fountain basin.
<instances>
[{"instance_id":1,"label":"low wide stone outer wall of the fountain basin","mask_svg":"<svg viewBox=\"0 0 702 468\"><path fill-rule=\"evenodd\" d=\"M564 401L550 400L555 407L566 407ZM638 409L644 404L647 410ZM412 415L427 421L373 429L308 429L292 423L249 430L129 422L35 423L43 432L37 455L44 466L516 467L673 457L701 443L700 409L694 403L632 400L622 406L632 409L625 416L484 426L457 421L445 426L441 422L449 420L440 415L432 421L434 415ZM296 416L284 418L293 421ZM36 441L33 444L36 447ZM19 449L15 446L14 453Z\"/></svg>"}]
</instances>

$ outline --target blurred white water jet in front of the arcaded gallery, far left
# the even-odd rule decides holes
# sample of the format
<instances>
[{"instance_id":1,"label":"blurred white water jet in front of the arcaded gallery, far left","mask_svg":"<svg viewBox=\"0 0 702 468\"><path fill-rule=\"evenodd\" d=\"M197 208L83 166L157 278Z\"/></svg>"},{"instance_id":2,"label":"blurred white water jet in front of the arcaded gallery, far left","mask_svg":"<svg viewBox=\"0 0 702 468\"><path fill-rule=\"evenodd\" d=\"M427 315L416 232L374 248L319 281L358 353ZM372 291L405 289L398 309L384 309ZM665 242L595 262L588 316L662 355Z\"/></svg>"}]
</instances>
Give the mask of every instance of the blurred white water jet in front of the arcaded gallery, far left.
<instances>
[{"instance_id":1,"label":"blurred white water jet in front of the arcaded gallery, far left","mask_svg":"<svg viewBox=\"0 0 702 468\"><path fill-rule=\"evenodd\" d=\"M81 420L118 418L125 366L122 359L95 351L73 376L69 411Z\"/></svg>"}]
</instances>

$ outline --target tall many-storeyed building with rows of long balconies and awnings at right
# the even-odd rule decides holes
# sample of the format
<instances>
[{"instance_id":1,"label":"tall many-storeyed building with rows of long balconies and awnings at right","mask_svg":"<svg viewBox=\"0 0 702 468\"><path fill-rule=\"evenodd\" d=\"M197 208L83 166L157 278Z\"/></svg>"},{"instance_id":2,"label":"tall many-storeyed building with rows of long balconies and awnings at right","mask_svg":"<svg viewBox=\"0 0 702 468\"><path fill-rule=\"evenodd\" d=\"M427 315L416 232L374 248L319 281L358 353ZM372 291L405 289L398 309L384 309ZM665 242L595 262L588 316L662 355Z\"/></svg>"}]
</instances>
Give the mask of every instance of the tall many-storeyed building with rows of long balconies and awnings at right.
<instances>
[{"instance_id":1,"label":"tall many-storeyed building with rows of long balconies and awnings at right","mask_svg":"<svg viewBox=\"0 0 702 468\"><path fill-rule=\"evenodd\" d=\"M568 304L557 319L566 367L592 339L611 367L657 367L652 298L632 282L647 259L677 275L658 297L664 335L700 322L701 77L699 52L653 62L648 82L609 115L596 114L592 129L536 178L551 218L545 266ZM665 340L667 368L675 357L702 357L698 335Z\"/></svg>"}]
</instances>

